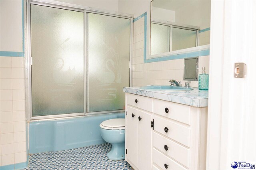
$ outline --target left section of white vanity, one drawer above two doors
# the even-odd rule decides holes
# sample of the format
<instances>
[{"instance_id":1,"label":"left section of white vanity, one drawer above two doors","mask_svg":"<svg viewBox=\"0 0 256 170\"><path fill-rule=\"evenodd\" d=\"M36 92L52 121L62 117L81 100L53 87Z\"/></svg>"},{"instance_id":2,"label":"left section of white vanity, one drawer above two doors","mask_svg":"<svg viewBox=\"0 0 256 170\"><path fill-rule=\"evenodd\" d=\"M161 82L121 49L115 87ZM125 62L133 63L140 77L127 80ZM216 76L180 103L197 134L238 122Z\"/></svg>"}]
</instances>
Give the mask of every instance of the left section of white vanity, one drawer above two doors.
<instances>
[{"instance_id":1,"label":"left section of white vanity, one drawer above two doors","mask_svg":"<svg viewBox=\"0 0 256 170\"><path fill-rule=\"evenodd\" d=\"M152 98L126 93L126 160L134 169L152 169Z\"/></svg>"}]
</instances>

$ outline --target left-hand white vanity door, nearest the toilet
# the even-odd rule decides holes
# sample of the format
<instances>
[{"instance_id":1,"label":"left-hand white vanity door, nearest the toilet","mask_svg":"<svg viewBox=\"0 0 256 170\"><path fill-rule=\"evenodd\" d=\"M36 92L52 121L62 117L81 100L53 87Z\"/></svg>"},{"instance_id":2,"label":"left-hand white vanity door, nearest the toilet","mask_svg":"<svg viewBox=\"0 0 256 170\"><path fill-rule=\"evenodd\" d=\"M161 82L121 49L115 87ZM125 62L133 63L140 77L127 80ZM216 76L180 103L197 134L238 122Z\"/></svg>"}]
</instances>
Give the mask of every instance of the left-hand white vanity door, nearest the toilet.
<instances>
[{"instance_id":1,"label":"left-hand white vanity door, nearest the toilet","mask_svg":"<svg viewBox=\"0 0 256 170\"><path fill-rule=\"evenodd\" d=\"M126 111L126 158L137 166L138 110L127 106Z\"/></svg>"}]
</instances>

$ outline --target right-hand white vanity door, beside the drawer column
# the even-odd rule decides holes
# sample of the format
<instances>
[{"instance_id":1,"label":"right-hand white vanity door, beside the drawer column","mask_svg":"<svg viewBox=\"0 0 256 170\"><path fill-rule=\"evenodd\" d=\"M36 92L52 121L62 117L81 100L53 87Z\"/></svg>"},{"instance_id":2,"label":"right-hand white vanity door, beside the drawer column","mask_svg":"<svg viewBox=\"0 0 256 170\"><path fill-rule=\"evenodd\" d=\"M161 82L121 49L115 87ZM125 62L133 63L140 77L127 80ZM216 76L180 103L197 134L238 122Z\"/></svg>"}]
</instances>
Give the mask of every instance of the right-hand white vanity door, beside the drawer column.
<instances>
[{"instance_id":1,"label":"right-hand white vanity door, beside the drawer column","mask_svg":"<svg viewBox=\"0 0 256 170\"><path fill-rule=\"evenodd\" d=\"M151 170L152 155L152 115L138 111L138 169Z\"/></svg>"}]
</instances>

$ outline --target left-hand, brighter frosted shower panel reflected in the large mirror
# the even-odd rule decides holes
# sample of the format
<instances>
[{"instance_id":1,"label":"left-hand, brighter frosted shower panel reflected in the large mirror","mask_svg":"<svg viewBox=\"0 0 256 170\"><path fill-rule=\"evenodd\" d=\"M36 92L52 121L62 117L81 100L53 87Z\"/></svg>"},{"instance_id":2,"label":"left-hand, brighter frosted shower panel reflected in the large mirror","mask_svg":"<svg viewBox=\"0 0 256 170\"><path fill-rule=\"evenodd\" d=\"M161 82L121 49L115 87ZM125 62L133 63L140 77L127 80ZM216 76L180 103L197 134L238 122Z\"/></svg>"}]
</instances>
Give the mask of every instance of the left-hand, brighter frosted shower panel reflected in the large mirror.
<instances>
[{"instance_id":1,"label":"left-hand, brighter frosted shower panel reflected in the large mirror","mask_svg":"<svg viewBox=\"0 0 256 170\"><path fill-rule=\"evenodd\" d=\"M150 55L170 51L170 26L151 23Z\"/></svg>"}]
</instances>

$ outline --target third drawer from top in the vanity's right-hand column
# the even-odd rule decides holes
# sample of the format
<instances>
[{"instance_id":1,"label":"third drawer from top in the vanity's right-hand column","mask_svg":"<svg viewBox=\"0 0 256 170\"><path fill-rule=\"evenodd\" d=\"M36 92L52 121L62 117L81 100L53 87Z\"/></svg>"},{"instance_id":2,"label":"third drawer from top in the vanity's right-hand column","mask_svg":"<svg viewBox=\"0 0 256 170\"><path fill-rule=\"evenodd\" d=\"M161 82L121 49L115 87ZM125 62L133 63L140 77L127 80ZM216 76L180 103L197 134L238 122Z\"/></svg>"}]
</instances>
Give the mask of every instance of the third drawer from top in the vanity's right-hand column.
<instances>
[{"instance_id":1,"label":"third drawer from top in the vanity's right-hand column","mask_svg":"<svg viewBox=\"0 0 256 170\"><path fill-rule=\"evenodd\" d=\"M153 146L171 158L189 168L189 149L172 140L163 137L156 132L153 133Z\"/></svg>"}]
</instances>

